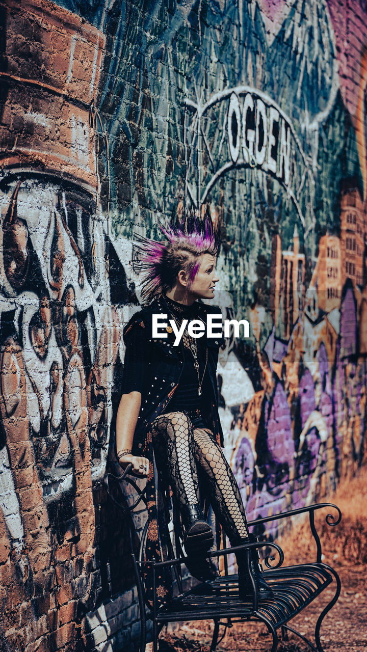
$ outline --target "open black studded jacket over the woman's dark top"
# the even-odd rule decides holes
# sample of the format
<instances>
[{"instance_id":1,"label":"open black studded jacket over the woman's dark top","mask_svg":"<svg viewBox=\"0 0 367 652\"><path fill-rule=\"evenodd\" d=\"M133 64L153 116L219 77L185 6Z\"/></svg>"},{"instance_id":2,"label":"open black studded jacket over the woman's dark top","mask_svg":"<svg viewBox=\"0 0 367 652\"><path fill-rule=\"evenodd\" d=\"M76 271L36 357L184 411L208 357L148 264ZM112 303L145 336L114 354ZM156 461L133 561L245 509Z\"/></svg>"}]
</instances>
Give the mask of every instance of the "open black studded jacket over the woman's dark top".
<instances>
[{"instance_id":1,"label":"open black studded jacket over the woman's dark top","mask_svg":"<svg viewBox=\"0 0 367 652\"><path fill-rule=\"evenodd\" d=\"M206 323L208 314L221 314L218 306L208 306L202 303L196 303L198 318ZM174 333L167 333L167 338L153 338L152 336L152 315L167 314L168 319L172 319L172 314L168 307L165 297L162 295L154 299L150 306L136 312L130 319L129 323L123 329L123 340L126 347L134 346L139 342L139 346L144 347L142 359L142 402L138 421L136 423L133 452L142 454L146 435L150 430L152 421L167 411L167 405L172 398L183 369L183 344L174 346ZM136 329L142 331L136 332ZM141 334L143 333L143 337ZM138 340L134 335L138 334ZM204 335L205 336L205 335ZM208 374L210 378L210 396L208 396L208 411L203 415L204 422L212 432L214 432L220 445L223 445L223 432L218 415L218 391L217 391L217 361L219 347L222 343L221 337L207 338L208 346ZM124 369L124 373L129 373Z\"/></svg>"}]
</instances>

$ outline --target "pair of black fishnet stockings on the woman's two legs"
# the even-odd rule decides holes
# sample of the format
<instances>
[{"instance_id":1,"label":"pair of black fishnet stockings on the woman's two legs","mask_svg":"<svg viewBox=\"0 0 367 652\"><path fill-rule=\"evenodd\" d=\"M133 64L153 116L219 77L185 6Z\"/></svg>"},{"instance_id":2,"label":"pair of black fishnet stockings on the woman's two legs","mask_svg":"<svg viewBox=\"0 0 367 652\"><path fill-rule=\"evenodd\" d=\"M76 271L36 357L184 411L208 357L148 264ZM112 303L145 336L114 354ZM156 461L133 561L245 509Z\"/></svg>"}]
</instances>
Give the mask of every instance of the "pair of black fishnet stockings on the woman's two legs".
<instances>
[{"instance_id":1,"label":"pair of black fishnet stockings on the woman's two legs","mask_svg":"<svg viewBox=\"0 0 367 652\"><path fill-rule=\"evenodd\" d=\"M180 505L200 504L200 480L232 546L248 537L238 485L221 447L210 430L195 428L182 412L169 412L153 421L157 466L167 475ZM199 468L199 470L198 470Z\"/></svg>"}]
</instances>

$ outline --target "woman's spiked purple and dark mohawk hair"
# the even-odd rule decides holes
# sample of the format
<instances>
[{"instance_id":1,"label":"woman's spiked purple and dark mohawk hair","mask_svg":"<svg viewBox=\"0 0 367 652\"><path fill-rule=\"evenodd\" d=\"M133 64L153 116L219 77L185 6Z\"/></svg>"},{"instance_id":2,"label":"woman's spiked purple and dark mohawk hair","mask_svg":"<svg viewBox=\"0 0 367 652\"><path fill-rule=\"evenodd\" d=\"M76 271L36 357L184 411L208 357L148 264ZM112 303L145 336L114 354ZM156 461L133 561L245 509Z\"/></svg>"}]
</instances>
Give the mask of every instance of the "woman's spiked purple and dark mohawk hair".
<instances>
[{"instance_id":1,"label":"woman's spiked purple and dark mohawk hair","mask_svg":"<svg viewBox=\"0 0 367 652\"><path fill-rule=\"evenodd\" d=\"M150 304L157 295L170 290L183 269L193 282L204 254L217 256L220 246L219 220L214 225L208 207L202 211L179 208L172 213L168 226L159 224L165 241L136 235L138 267L144 270L141 296Z\"/></svg>"}]
</instances>

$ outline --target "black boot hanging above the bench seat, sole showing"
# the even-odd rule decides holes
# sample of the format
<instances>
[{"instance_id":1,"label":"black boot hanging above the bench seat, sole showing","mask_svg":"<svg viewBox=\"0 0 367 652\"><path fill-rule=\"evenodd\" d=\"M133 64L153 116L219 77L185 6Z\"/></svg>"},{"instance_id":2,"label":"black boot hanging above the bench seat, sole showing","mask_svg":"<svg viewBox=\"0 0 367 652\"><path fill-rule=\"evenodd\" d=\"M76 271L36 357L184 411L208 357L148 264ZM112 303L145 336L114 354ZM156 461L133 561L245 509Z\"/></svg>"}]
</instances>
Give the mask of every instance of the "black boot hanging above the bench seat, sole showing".
<instances>
[{"instance_id":1,"label":"black boot hanging above the bench seat, sole showing","mask_svg":"<svg viewBox=\"0 0 367 652\"><path fill-rule=\"evenodd\" d=\"M181 513L185 528L183 541L187 569L198 580L214 580L218 576L217 568L211 559L205 557L214 543L212 528L206 522L199 505L185 505Z\"/></svg>"}]
</instances>

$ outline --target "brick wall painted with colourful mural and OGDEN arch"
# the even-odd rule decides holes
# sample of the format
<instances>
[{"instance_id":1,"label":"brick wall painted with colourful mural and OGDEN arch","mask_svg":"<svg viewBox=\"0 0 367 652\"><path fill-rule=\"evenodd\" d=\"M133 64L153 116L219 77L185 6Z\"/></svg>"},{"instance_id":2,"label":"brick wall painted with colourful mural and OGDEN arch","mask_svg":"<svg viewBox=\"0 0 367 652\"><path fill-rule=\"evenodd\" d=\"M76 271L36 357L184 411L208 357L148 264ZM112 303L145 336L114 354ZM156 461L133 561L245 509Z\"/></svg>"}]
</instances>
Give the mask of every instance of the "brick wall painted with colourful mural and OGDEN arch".
<instances>
[{"instance_id":1,"label":"brick wall painted with colourful mural and OGDEN arch","mask_svg":"<svg viewBox=\"0 0 367 652\"><path fill-rule=\"evenodd\" d=\"M103 477L135 235L177 201L221 220L215 300L251 325L218 367L249 518L365 462L367 7L0 7L0 647L127 650L136 593Z\"/></svg>"}]
</instances>

